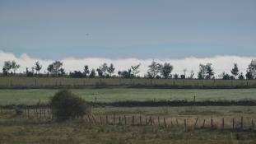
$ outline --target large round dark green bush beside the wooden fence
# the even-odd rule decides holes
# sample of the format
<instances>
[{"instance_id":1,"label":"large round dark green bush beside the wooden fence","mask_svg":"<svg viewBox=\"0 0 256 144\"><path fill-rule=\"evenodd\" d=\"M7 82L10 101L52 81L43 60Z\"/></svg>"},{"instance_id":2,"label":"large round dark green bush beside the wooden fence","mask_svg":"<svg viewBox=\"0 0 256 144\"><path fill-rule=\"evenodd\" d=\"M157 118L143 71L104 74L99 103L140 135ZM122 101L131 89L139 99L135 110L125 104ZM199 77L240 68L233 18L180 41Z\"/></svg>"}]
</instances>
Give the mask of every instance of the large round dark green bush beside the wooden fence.
<instances>
[{"instance_id":1,"label":"large round dark green bush beside the wooden fence","mask_svg":"<svg viewBox=\"0 0 256 144\"><path fill-rule=\"evenodd\" d=\"M58 91L51 98L49 105L54 116L61 121L69 118L79 118L90 113L90 107L86 104L86 101L68 90Z\"/></svg>"}]
</instances>

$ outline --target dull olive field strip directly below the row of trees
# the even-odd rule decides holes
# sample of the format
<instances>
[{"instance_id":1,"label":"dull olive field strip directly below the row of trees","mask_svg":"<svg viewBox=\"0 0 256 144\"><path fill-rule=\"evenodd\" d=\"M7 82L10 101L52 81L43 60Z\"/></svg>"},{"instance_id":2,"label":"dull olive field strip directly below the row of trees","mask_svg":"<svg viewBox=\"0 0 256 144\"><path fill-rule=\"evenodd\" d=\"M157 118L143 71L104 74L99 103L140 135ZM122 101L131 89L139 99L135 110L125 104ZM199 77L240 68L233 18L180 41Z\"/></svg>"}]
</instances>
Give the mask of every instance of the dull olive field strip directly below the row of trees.
<instances>
[{"instance_id":1,"label":"dull olive field strip directly below the row of trees","mask_svg":"<svg viewBox=\"0 0 256 144\"><path fill-rule=\"evenodd\" d=\"M256 80L0 77L0 88L256 88Z\"/></svg>"}]
</instances>

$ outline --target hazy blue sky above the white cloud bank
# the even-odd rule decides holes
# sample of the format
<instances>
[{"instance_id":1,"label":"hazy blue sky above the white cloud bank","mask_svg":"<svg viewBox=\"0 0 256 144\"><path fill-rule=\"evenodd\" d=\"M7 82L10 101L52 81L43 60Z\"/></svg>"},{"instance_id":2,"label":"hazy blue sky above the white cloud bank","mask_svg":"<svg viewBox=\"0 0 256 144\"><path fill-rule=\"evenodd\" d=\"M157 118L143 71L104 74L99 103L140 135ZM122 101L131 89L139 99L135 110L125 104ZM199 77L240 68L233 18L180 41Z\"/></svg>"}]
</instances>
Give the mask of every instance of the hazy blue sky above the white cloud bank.
<instances>
[{"instance_id":1,"label":"hazy blue sky above the white cloud bank","mask_svg":"<svg viewBox=\"0 0 256 144\"><path fill-rule=\"evenodd\" d=\"M249 63L255 13L254 0L0 0L0 52L46 62L205 60L193 69L211 58Z\"/></svg>"}]
</instances>

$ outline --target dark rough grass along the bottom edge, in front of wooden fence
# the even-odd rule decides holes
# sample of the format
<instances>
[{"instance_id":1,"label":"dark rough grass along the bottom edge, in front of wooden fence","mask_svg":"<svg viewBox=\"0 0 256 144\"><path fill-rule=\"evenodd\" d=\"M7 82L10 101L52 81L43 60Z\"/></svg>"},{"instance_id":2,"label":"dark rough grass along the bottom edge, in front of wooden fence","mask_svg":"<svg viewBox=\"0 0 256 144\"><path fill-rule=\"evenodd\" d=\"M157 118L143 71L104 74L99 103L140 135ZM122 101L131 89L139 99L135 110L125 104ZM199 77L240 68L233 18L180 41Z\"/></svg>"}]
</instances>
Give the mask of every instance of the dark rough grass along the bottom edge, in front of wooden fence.
<instances>
[{"instance_id":1,"label":"dark rough grass along the bottom edge, in front of wooden fence","mask_svg":"<svg viewBox=\"0 0 256 144\"><path fill-rule=\"evenodd\" d=\"M155 126L92 126L84 122L0 125L0 143L254 143L254 132L192 130Z\"/></svg>"}]
</instances>

